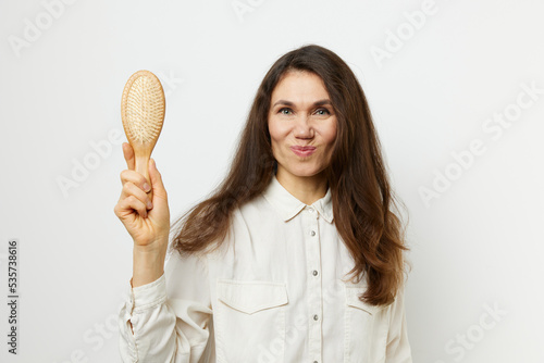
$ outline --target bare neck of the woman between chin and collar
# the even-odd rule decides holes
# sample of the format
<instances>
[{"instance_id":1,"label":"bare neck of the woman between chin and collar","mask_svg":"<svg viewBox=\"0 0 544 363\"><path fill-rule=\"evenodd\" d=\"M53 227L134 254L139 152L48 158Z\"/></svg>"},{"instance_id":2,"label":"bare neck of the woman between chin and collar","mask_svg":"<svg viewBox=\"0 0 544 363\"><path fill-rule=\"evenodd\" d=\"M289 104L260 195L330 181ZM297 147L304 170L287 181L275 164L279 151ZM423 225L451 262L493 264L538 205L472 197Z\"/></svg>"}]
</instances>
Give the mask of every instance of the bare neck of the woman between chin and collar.
<instances>
[{"instance_id":1,"label":"bare neck of the woman between chin and collar","mask_svg":"<svg viewBox=\"0 0 544 363\"><path fill-rule=\"evenodd\" d=\"M307 205L313 204L326 193L327 183L324 173L312 176L296 176L279 168L275 177L292 196Z\"/></svg>"}]
</instances>

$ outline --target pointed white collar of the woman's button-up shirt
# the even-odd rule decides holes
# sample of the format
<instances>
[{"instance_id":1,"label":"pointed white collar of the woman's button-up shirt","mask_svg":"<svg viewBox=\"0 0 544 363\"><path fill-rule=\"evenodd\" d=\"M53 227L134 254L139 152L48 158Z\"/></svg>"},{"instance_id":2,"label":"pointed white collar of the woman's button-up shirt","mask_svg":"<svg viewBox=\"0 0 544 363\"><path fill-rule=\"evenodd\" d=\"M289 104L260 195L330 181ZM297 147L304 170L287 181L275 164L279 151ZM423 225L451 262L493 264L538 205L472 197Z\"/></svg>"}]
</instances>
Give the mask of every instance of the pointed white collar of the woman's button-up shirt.
<instances>
[{"instance_id":1,"label":"pointed white collar of the woman's button-up shirt","mask_svg":"<svg viewBox=\"0 0 544 363\"><path fill-rule=\"evenodd\" d=\"M277 182L275 174L272 175L270 184L263 191L263 196L285 222L297 215L305 206L310 206L288 192L287 189ZM325 196L313 202L311 206L313 206L326 222L333 223L334 216L331 188L326 189Z\"/></svg>"}]
</instances>

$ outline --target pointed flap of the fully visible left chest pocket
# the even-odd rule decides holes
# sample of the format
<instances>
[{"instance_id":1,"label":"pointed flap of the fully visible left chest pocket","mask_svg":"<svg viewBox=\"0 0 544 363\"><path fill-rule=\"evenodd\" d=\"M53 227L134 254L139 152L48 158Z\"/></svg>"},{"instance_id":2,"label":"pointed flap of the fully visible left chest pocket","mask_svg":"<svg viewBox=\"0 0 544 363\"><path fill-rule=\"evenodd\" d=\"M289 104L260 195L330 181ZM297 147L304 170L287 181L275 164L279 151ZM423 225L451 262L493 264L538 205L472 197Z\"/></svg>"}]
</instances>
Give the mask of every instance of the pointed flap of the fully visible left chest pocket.
<instances>
[{"instance_id":1,"label":"pointed flap of the fully visible left chest pocket","mask_svg":"<svg viewBox=\"0 0 544 363\"><path fill-rule=\"evenodd\" d=\"M247 314L288 302L287 288L282 283L218 279L217 292L219 300Z\"/></svg>"}]
</instances>

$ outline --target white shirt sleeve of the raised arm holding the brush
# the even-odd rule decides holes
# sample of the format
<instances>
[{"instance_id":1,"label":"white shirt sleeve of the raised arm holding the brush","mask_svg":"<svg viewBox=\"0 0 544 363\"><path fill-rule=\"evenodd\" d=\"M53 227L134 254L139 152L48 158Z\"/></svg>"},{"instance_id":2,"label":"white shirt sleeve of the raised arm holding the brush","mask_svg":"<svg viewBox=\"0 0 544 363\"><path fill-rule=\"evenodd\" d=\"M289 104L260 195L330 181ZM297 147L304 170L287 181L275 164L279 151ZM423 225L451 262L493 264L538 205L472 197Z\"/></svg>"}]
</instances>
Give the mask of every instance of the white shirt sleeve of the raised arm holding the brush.
<instances>
[{"instance_id":1,"label":"white shirt sleeve of the raised arm holding the brush","mask_svg":"<svg viewBox=\"0 0 544 363\"><path fill-rule=\"evenodd\" d=\"M209 353L212 310L207 261L173 252L161 277L127 287L119 314L123 362L197 363Z\"/></svg>"}]
</instances>

